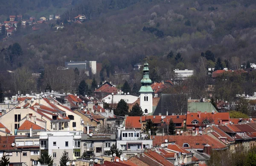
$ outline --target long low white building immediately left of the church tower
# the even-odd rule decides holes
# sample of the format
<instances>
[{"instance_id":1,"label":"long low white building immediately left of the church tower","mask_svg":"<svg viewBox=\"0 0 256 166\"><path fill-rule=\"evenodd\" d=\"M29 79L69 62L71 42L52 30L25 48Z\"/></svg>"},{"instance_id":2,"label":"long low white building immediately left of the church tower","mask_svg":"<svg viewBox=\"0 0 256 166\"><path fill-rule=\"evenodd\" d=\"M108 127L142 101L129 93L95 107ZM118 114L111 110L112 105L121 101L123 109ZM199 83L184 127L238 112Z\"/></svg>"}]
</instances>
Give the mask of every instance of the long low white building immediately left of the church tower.
<instances>
[{"instance_id":1,"label":"long low white building immediately left of the church tower","mask_svg":"<svg viewBox=\"0 0 256 166\"><path fill-rule=\"evenodd\" d=\"M139 97L137 96L133 96L133 95L111 95L109 94L108 96L104 97L102 100L104 100L105 103L108 104L116 104L118 103L121 99L125 100L125 102L127 104L132 104L134 103L136 100L138 100Z\"/></svg>"}]
</instances>

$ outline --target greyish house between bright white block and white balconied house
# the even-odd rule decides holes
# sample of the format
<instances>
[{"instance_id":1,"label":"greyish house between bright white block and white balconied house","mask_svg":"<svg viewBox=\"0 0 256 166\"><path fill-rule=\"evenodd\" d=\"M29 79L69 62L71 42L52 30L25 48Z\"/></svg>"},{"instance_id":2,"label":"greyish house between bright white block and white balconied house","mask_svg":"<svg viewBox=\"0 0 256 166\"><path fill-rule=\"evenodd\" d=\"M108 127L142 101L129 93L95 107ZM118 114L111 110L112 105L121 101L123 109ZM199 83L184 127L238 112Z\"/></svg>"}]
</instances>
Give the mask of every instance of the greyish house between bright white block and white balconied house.
<instances>
[{"instance_id":1,"label":"greyish house between bright white block and white balconied house","mask_svg":"<svg viewBox=\"0 0 256 166\"><path fill-rule=\"evenodd\" d=\"M115 134L82 134L81 135L81 153L84 151L93 156L106 155L110 147L116 144Z\"/></svg>"}]
</instances>

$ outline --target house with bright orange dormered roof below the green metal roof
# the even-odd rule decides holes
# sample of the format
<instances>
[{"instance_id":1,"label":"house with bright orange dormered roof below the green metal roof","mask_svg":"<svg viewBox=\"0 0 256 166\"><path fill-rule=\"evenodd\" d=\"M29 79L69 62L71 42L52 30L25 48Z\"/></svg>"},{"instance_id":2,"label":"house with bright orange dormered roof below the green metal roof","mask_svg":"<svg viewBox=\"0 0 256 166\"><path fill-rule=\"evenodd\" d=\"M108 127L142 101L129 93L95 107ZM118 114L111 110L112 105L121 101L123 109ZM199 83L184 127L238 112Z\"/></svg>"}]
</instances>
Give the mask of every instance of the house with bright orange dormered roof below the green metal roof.
<instances>
[{"instance_id":1,"label":"house with bright orange dormered roof below the green metal roof","mask_svg":"<svg viewBox=\"0 0 256 166\"><path fill-rule=\"evenodd\" d=\"M229 112L200 112L191 113L187 112L186 126L191 129L192 135L202 134L207 125L221 125L229 123Z\"/></svg>"}]
</instances>

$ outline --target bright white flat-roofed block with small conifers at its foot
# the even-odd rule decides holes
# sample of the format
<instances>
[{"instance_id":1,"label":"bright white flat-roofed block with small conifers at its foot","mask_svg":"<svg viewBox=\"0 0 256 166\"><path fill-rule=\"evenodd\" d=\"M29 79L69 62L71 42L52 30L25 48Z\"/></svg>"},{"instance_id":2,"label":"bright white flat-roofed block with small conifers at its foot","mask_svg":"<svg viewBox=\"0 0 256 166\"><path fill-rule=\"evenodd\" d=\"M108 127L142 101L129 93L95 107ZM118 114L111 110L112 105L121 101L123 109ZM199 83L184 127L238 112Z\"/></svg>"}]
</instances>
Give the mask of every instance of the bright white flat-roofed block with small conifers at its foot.
<instances>
[{"instance_id":1,"label":"bright white flat-roofed block with small conifers at its foot","mask_svg":"<svg viewBox=\"0 0 256 166\"><path fill-rule=\"evenodd\" d=\"M59 165L63 152L66 151L70 160L80 157L81 132L41 132L40 151L45 150L53 158L53 164Z\"/></svg>"}]
</instances>

